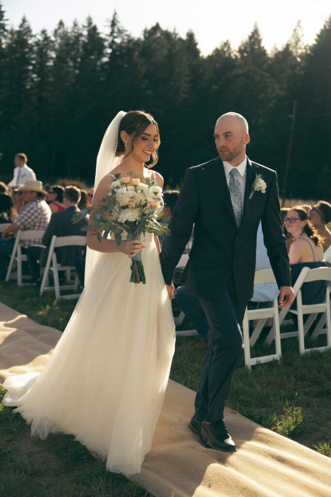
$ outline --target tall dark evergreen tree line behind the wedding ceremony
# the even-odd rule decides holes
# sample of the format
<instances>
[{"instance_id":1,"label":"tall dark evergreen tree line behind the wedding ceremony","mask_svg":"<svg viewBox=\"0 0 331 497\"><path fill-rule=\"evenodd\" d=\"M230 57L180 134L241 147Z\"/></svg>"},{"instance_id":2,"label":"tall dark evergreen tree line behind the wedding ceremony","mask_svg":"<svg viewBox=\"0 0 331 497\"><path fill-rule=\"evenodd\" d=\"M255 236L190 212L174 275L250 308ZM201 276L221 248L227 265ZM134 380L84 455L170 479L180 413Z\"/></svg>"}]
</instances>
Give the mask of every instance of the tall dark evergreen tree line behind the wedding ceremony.
<instances>
[{"instance_id":1,"label":"tall dark evergreen tree line behind the wedding ceremony","mask_svg":"<svg viewBox=\"0 0 331 497\"><path fill-rule=\"evenodd\" d=\"M157 169L176 187L187 167L217 156L214 124L232 110L248 120L248 157L275 169L280 188L292 123L287 193L330 199L331 16L311 46L298 23L268 53L255 25L237 50L222 41L208 56L192 31L180 37L157 23L134 38L116 12L107 35L91 17L60 20L52 33L33 33L25 17L8 24L0 4L0 179L24 152L39 179L92 184L109 122L144 109L160 126Z\"/></svg>"}]
</instances>

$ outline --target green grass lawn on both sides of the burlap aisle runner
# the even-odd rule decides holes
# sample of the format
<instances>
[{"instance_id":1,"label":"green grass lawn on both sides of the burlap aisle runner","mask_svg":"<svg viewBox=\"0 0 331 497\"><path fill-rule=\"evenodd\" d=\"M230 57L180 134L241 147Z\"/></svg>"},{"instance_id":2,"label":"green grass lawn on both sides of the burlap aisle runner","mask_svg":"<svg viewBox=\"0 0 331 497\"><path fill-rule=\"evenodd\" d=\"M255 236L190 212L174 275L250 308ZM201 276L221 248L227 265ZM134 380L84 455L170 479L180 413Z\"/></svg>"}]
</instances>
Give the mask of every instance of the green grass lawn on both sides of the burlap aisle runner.
<instances>
[{"instance_id":1,"label":"green grass lawn on both sides of the burlap aisle runner","mask_svg":"<svg viewBox=\"0 0 331 497\"><path fill-rule=\"evenodd\" d=\"M42 298L31 287L0 282L0 301L40 324L64 330L76 301ZM174 306L175 307L175 306ZM177 309L174 309L177 312ZM178 329L188 329L185 320ZM178 337L170 377L197 389L205 350L197 336ZM262 340L261 340L262 342ZM323 345L326 337L319 337ZM307 346L312 344L307 342ZM253 354L263 355L256 345ZM270 351L269 351L270 353ZM242 360L232 382L228 407L249 419L331 457L331 350L300 356L296 338L282 341L281 364L252 366ZM1 388L1 387L0 387ZM0 390L0 397L4 394ZM106 471L70 435L30 437L29 427L11 408L0 409L1 497L152 497L126 478Z\"/></svg>"}]
</instances>

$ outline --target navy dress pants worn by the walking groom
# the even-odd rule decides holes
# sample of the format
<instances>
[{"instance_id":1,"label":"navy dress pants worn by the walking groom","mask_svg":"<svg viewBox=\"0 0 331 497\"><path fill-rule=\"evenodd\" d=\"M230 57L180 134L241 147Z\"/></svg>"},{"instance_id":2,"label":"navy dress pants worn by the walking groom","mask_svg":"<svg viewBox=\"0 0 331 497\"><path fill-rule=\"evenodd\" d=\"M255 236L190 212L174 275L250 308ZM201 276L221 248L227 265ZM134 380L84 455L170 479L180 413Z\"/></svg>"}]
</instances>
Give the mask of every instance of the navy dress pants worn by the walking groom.
<instances>
[{"instance_id":1,"label":"navy dress pants worn by the walking groom","mask_svg":"<svg viewBox=\"0 0 331 497\"><path fill-rule=\"evenodd\" d=\"M244 353L240 330L246 305L239 304L233 277L215 299L199 297L209 332L208 348L195 398L195 417L209 422L224 417L232 376Z\"/></svg>"}]
</instances>

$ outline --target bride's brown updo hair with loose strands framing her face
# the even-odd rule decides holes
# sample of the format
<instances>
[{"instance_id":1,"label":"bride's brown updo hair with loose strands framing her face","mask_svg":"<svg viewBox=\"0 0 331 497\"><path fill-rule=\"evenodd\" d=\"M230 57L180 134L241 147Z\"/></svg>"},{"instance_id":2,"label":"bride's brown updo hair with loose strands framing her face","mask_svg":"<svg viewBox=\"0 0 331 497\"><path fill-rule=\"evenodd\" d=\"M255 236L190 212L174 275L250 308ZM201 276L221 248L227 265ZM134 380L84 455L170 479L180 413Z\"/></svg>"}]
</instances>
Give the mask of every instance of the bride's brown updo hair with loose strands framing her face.
<instances>
[{"instance_id":1,"label":"bride's brown updo hair with loose strands framing her face","mask_svg":"<svg viewBox=\"0 0 331 497\"><path fill-rule=\"evenodd\" d=\"M150 168L155 166L156 163L158 162L157 149L161 143L159 126L156 120L154 119L154 117L151 114L144 112L143 110L130 110L130 112L127 112L125 116L122 118L118 129L116 157L120 157L122 155L124 156L125 154L125 147L123 140L121 138L121 131L126 131L128 135L132 135L134 133L134 137L132 140L132 150L133 150L133 142L136 140L136 138L138 138L144 133L144 131L150 124L154 124L156 126L158 133L158 141L156 143L156 148L152 153L153 162L152 164L149 164L147 167Z\"/></svg>"}]
</instances>

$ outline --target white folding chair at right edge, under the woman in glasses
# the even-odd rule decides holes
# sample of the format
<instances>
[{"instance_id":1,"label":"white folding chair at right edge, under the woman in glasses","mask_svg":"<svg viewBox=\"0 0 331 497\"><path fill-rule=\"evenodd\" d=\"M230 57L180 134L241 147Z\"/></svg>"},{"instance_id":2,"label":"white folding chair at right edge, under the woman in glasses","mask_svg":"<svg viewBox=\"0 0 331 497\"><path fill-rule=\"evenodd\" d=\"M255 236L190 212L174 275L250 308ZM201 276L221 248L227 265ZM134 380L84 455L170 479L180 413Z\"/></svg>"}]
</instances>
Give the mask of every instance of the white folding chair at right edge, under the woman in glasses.
<instances>
[{"instance_id":1,"label":"white folding chair at right edge, under the woman in glasses","mask_svg":"<svg viewBox=\"0 0 331 497\"><path fill-rule=\"evenodd\" d=\"M312 281L326 281L326 296L325 302L321 304L303 304L302 303L302 295L301 289L298 290L297 294L297 309L290 309L290 312L296 314L298 316L298 331L297 334L299 336L299 352L300 354L304 354L305 352L310 352L312 350L319 350L323 352L331 347L331 315L330 315L330 287L331 287L331 267L317 267L316 269L310 269L305 276L305 279L302 284L310 283ZM316 316L319 313L323 313L325 315L326 322L326 333L327 333L327 345L323 347L312 347L305 348L305 335L308 333L312 324L314 323ZM303 322L304 314L309 314L309 318L307 319L305 325ZM320 319L319 323L321 322ZM319 326L319 323L317 326ZM321 333L321 329L319 327L318 332L315 333L315 329L313 331L314 338L317 338L318 334Z\"/></svg>"}]
</instances>

